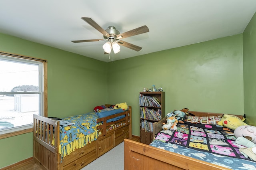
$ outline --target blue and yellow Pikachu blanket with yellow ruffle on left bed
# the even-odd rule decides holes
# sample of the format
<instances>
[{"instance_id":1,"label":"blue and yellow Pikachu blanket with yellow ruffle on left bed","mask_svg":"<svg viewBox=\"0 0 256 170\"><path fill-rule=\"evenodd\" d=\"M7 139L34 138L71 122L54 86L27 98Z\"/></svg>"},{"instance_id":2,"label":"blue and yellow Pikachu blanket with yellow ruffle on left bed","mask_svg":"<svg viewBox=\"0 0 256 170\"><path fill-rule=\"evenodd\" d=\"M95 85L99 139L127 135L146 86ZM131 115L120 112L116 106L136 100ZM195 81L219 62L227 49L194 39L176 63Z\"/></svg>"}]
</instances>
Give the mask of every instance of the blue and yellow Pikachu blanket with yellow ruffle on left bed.
<instances>
[{"instance_id":1,"label":"blue and yellow Pikachu blanket with yellow ruffle on left bed","mask_svg":"<svg viewBox=\"0 0 256 170\"><path fill-rule=\"evenodd\" d=\"M94 112L62 118L73 124L60 127L59 154L62 158L98 138L97 119Z\"/></svg>"}]
</instances>

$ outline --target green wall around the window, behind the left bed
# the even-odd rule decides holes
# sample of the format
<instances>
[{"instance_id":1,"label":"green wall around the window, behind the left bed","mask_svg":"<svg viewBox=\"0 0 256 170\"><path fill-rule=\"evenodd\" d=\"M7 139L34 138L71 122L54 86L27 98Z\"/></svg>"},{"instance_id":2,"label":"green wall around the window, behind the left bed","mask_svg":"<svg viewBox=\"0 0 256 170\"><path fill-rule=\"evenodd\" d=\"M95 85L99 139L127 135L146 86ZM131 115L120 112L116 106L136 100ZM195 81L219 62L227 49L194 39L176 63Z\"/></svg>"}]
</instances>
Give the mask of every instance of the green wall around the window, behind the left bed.
<instances>
[{"instance_id":1,"label":"green wall around the window, behind the left bed","mask_svg":"<svg viewBox=\"0 0 256 170\"><path fill-rule=\"evenodd\" d=\"M48 116L79 115L107 103L105 62L4 34L0 51L48 60ZM30 158L32 132L1 139L0 148L0 168Z\"/></svg>"}]
</instances>

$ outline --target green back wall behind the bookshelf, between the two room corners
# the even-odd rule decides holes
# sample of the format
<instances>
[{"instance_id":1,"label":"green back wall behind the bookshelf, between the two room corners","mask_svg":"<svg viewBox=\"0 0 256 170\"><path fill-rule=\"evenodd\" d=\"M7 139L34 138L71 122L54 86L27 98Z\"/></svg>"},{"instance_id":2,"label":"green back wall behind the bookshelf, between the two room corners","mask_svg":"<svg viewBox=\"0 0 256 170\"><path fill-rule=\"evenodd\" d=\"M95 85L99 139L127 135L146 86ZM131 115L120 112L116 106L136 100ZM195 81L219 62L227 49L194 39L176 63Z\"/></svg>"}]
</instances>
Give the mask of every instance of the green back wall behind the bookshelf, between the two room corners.
<instances>
[{"instance_id":1,"label":"green back wall behind the bookshelf, between the two room corners","mask_svg":"<svg viewBox=\"0 0 256 170\"><path fill-rule=\"evenodd\" d=\"M244 113L242 34L108 63L108 102L132 106L132 134L140 136L139 92L165 91L174 109Z\"/></svg>"}]
</instances>

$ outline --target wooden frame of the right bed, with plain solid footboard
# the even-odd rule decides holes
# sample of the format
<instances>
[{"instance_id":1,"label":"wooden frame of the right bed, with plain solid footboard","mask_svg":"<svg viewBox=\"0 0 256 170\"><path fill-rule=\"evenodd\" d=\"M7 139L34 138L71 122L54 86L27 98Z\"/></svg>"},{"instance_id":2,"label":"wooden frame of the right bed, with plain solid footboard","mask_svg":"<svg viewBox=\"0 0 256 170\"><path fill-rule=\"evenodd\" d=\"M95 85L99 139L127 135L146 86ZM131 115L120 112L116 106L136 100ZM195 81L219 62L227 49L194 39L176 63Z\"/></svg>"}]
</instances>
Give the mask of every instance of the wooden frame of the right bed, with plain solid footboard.
<instances>
[{"instance_id":1,"label":"wooden frame of the right bed, with plain solid footboard","mask_svg":"<svg viewBox=\"0 0 256 170\"><path fill-rule=\"evenodd\" d=\"M223 115L220 113L206 113L189 111L195 116L214 116ZM240 119L242 115L236 115ZM166 123L167 117L154 123L154 133L162 130L163 123ZM190 158L143 144L129 139L124 140L124 170L144 170L144 169L166 169L166 170L228 170L222 166L210 164L201 160Z\"/></svg>"}]
</instances>

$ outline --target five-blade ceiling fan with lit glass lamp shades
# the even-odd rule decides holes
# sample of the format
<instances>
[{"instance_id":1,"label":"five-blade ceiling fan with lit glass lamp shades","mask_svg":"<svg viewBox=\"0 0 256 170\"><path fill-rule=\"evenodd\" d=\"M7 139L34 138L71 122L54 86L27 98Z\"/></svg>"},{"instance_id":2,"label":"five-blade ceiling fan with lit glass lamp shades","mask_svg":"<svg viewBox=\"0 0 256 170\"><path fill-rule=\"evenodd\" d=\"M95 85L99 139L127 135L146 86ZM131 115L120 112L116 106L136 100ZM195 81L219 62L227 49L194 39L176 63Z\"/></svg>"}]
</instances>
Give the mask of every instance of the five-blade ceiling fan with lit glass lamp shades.
<instances>
[{"instance_id":1,"label":"five-blade ceiling fan with lit glass lamp shades","mask_svg":"<svg viewBox=\"0 0 256 170\"><path fill-rule=\"evenodd\" d=\"M137 45L134 45L134 44L131 44L128 42L124 42L120 39L149 32L149 29L147 26L141 26L141 27L135 28L133 30L130 30L128 32L124 32L124 33L120 34L120 32L118 30L116 30L116 28L114 26L109 26L107 30L104 30L96 22L94 22L94 20L92 20L92 18L82 17L81 19L84 20L85 22L87 22L88 24L90 24L92 27L94 27L99 32L101 32L103 34L104 39L76 40L76 41L71 41L71 42L80 43L80 42L108 41L103 45L105 54L111 53L112 50L114 51L114 53L118 53L120 51L120 46L118 44L120 44L124 47L128 47L130 49L133 49L135 51L140 51L142 49L142 47L139 47Z\"/></svg>"}]
</instances>

